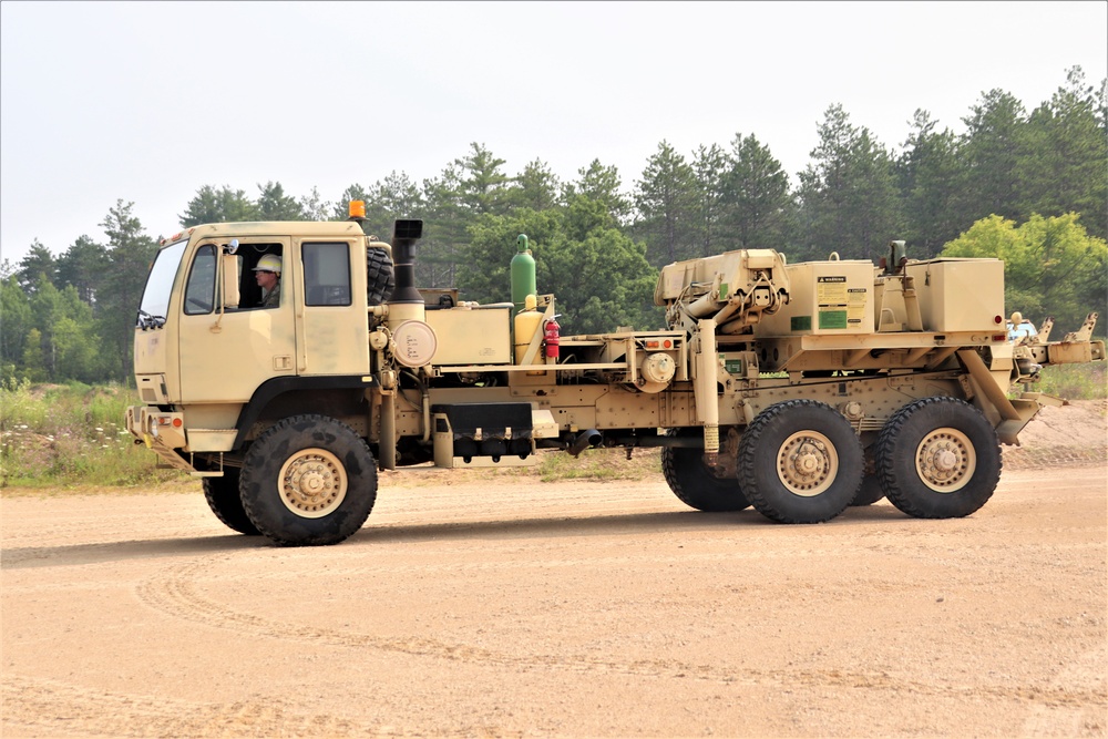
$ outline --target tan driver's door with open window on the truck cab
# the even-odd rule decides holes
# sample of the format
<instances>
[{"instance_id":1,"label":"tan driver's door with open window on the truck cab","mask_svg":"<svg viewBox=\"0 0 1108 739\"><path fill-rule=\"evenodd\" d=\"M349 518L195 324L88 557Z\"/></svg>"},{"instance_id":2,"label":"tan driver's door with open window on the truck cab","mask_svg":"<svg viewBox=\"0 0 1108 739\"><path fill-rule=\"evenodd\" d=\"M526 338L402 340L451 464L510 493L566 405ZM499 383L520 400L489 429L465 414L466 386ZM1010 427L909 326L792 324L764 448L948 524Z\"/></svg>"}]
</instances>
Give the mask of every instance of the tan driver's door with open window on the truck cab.
<instances>
[{"instance_id":1,"label":"tan driver's door with open window on the truck cab","mask_svg":"<svg viewBox=\"0 0 1108 739\"><path fill-rule=\"evenodd\" d=\"M296 373L297 264L288 258L289 239L242 237L239 242L242 305L227 306L222 315L223 298L216 289L219 247L202 242L193 253L179 306L184 402L244 403L264 381ZM279 304L270 308L259 307L260 291L254 285L254 268L266 255L281 260Z\"/></svg>"}]
</instances>

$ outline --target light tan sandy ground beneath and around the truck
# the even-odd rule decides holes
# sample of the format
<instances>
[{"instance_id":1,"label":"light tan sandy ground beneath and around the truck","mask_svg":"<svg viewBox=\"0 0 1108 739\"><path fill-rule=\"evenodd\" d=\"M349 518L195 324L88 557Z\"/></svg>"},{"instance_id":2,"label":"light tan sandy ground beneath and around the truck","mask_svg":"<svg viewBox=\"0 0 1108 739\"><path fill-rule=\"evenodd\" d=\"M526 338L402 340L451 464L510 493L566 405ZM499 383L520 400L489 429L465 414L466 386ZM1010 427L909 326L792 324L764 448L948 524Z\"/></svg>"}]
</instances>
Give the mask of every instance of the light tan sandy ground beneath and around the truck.
<instances>
[{"instance_id":1,"label":"light tan sandy ground beneath and around the truck","mask_svg":"<svg viewBox=\"0 0 1108 739\"><path fill-rule=\"evenodd\" d=\"M1104 409L1048 410L951 521L427 471L285 550L199 493L6 497L0 731L1108 736Z\"/></svg>"}]
</instances>

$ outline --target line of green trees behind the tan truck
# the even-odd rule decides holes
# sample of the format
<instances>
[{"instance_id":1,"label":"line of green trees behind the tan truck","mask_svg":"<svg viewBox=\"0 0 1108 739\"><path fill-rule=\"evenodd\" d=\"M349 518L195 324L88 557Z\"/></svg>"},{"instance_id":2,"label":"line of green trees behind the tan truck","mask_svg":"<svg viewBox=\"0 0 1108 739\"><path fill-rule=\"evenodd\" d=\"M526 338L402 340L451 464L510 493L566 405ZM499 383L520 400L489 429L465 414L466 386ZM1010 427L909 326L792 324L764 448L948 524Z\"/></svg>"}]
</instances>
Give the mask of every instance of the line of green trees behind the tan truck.
<instances>
[{"instance_id":1,"label":"line of green trees behind the tan truck","mask_svg":"<svg viewBox=\"0 0 1108 739\"><path fill-rule=\"evenodd\" d=\"M181 226L235 220L345 219L367 204L367 230L387 240L396 218L422 218L417 279L502 301L516 236L531 239L540 292L558 299L566 332L656 328L659 267L738 248L776 248L790 261L876 259L891 239L913 258L998 256L1007 309L1049 311L1065 330L1108 295L1108 80L1079 66L1028 111L992 90L962 119L965 132L916 111L899 150L830 105L810 163L790 179L753 133L688 154L658 144L625 186L599 158L563 182L540 158L515 175L484 144L420 183L392 172L336 201L296 197L279 182L257 195L204 185ZM117 201L55 257L35 240L0 267L0 367L32 381L127 381L134 315L157 245ZM1076 328L1076 326L1074 326Z\"/></svg>"}]
</instances>

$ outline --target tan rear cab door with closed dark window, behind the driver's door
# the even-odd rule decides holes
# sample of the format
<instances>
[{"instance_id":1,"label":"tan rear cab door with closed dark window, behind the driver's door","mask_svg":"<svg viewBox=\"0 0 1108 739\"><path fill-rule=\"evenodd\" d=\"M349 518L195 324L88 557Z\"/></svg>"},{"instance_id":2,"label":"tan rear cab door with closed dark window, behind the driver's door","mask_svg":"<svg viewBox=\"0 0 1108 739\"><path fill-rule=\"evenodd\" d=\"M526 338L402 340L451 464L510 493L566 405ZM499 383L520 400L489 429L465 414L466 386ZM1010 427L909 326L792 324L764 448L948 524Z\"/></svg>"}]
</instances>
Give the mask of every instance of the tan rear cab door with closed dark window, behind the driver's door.
<instances>
[{"instance_id":1,"label":"tan rear cab door with closed dark window, behind the driver's door","mask_svg":"<svg viewBox=\"0 0 1108 739\"><path fill-rule=\"evenodd\" d=\"M300 374L369 371L365 247L356 239L294 239L302 300L297 311Z\"/></svg>"}]
</instances>

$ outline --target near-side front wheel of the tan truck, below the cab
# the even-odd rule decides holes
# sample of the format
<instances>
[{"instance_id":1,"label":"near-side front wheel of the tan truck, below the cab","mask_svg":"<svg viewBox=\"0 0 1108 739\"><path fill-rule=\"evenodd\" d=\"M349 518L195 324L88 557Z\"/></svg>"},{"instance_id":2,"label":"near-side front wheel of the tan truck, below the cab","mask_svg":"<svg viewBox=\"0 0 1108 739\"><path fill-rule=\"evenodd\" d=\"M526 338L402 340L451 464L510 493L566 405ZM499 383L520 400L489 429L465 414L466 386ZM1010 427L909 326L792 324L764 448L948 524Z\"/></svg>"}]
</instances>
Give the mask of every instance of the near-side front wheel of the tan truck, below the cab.
<instances>
[{"instance_id":1,"label":"near-side front wheel of the tan truck, below the cab","mask_svg":"<svg viewBox=\"0 0 1108 739\"><path fill-rule=\"evenodd\" d=\"M377 464L348 425L294 415L250 445L239 492L250 521L274 543L337 544L361 528L373 509Z\"/></svg>"}]
</instances>

